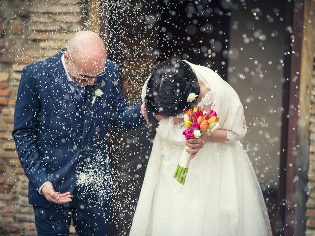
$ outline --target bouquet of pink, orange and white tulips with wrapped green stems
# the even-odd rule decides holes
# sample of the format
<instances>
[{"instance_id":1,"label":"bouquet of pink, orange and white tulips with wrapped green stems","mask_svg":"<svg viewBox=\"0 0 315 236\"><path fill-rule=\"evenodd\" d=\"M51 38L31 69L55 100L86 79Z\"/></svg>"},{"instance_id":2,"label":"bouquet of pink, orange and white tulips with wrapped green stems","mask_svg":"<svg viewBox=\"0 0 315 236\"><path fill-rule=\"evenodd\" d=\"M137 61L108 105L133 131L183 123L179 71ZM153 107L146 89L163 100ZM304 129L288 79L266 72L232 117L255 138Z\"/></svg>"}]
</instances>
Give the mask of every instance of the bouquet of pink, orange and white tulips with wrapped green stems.
<instances>
[{"instance_id":1,"label":"bouquet of pink, orange and white tulips with wrapped green stems","mask_svg":"<svg viewBox=\"0 0 315 236\"><path fill-rule=\"evenodd\" d=\"M186 140L199 139L204 133L208 131L215 131L219 128L219 117L213 110L205 112L194 107L193 109L184 112L184 121L187 129L184 130L183 135L185 135ZM179 164L177 165L174 173L174 178L183 185L185 184L191 160L191 154L186 151L187 148L189 147L185 146Z\"/></svg>"}]
</instances>

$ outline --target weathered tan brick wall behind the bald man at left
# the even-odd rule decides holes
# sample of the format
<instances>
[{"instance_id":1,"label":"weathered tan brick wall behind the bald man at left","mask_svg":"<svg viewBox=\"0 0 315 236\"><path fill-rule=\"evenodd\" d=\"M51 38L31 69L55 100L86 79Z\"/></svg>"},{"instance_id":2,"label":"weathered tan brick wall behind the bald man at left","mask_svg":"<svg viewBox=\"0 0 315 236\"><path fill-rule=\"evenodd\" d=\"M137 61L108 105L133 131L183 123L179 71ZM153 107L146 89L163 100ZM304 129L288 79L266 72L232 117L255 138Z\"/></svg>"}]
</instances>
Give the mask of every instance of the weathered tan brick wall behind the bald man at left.
<instances>
[{"instance_id":1,"label":"weathered tan brick wall behind the bald man at left","mask_svg":"<svg viewBox=\"0 0 315 236\"><path fill-rule=\"evenodd\" d=\"M0 1L0 235L36 235L28 179L11 132L23 67L55 55L83 27L84 0ZM84 11L83 11L84 9ZM71 228L74 232L74 228Z\"/></svg>"}]
</instances>

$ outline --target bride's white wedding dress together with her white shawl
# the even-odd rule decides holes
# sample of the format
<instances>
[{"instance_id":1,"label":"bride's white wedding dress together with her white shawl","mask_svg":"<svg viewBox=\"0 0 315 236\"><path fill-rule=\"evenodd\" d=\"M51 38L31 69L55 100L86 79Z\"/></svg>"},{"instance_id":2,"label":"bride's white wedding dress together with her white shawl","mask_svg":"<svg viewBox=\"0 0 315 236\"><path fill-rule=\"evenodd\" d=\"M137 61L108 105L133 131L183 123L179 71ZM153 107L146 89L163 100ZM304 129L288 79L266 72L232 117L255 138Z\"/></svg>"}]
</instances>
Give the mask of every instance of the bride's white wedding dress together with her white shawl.
<instances>
[{"instance_id":1,"label":"bride's white wedding dress together with her white shawl","mask_svg":"<svg viewBox=\"0 0 315 236\"><path fill-rule=\"evenodd\" d=\"M238 141L246 134L238 95L211 69L189 65L209 89L197 107L218 113L229 142L206 143L190 162L185 185L179 184L173 174L185 125L162 119L129 236L271 236L257 177Z\"/></svg>"}]
</instances>

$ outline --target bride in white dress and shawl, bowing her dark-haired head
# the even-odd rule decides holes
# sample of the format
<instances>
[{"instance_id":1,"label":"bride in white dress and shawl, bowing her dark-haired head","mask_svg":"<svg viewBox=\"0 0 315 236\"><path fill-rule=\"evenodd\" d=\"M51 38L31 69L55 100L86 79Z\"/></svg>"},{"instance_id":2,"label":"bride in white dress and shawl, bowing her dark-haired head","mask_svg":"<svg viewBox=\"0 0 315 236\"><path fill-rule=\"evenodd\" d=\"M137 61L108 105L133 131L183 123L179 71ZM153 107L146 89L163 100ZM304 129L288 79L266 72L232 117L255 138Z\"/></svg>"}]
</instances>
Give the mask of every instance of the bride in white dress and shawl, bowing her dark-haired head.
<instances>
[{"instance_id":1,"label":"bride in white dress and shawl, bowing her dark-haired head","mask_svg":"<svg viewBox=\"0 0 315 236\"><path fill-rule=\"evenodd\" d=\"M188 102L190 93L198 96ZM142 90L156 128L130 236L271 236L268 212L240 140L247 133L237 93L211 69L186 60L158 64ZM183 112L216 111L220 128L185 141ZM173 178L185 145L185 185Z\"/></svg>"}]
</instances>

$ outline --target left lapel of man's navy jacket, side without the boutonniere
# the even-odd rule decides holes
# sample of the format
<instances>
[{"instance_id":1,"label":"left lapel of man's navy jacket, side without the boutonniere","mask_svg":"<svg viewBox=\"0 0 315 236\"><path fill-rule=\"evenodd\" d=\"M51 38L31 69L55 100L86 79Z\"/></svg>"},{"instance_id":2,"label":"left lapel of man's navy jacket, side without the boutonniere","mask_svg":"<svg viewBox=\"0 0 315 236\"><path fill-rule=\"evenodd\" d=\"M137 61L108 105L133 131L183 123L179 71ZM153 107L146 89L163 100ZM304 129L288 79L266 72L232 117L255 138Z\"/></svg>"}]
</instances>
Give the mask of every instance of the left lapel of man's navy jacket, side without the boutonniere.
<instances>
[{"instance_id":1,"label":"left lapel of man's navy jacket, side without the boutonniere","mask_svg":"<svg viewBox=\"0 0 315 236\"><path fill-rule=\"evenodd\" d=\"M46 88L59 108L58 110L61 111L62 114L60 115L65 118L69 127L71 127L71 131L79 137L78 126L75 125L78 122L75 109L76 100L68 85L61 59L57 59L55 67L48 68L49 70L46 71L48 74L48 79L45 82Z\"/></svg>"}]
</instances>

